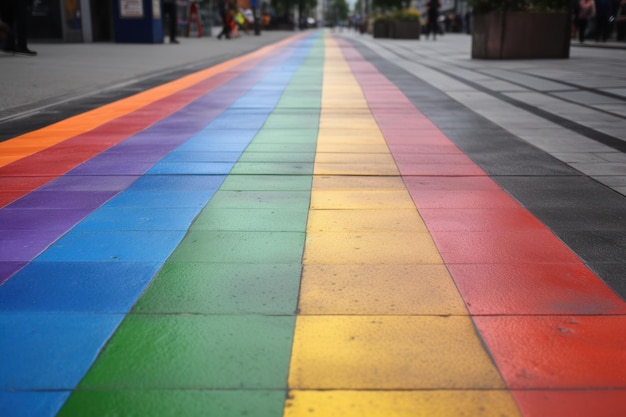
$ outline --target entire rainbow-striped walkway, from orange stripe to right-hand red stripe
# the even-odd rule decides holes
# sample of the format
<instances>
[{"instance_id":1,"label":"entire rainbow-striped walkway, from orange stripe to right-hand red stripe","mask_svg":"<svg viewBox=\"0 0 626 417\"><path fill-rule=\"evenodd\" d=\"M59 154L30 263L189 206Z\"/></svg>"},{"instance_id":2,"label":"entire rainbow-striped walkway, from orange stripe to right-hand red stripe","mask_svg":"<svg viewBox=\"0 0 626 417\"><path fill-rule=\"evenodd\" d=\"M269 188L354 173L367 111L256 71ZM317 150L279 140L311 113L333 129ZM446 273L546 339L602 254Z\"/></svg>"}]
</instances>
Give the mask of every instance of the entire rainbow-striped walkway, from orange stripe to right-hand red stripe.
<instances>
[{"instance_id":1,"label":"entire rainbow-striped walkway, from orange stripe to right-hand red stripe","mask_svg":"<svg viewBox=\"0 0 626 417\"><path fill-rule=\"evenodd\" d=\"M626 413L626 303L345 39L0 165L2 416Z\"/></svg>"}]
</instances>

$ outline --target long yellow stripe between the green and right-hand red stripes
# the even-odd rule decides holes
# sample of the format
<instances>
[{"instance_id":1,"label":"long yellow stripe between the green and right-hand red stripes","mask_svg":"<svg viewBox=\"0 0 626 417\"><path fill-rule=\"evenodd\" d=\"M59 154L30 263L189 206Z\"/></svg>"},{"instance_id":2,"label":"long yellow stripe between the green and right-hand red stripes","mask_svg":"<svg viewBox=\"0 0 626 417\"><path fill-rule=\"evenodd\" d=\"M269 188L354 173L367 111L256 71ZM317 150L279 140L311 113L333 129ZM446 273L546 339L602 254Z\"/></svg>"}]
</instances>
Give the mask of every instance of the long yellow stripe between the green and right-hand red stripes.
<instances>
[{"instance_id":1,"label":"long yellow stripe between the green and right-hand red stripes","mask_svg":"<svg viewBox=\"0 0 626 417\"><path fill-rule=\"evenodd\" d=\"M284 415L519 415L330 37L322 88Z\"/></svg>"}]
</instances>

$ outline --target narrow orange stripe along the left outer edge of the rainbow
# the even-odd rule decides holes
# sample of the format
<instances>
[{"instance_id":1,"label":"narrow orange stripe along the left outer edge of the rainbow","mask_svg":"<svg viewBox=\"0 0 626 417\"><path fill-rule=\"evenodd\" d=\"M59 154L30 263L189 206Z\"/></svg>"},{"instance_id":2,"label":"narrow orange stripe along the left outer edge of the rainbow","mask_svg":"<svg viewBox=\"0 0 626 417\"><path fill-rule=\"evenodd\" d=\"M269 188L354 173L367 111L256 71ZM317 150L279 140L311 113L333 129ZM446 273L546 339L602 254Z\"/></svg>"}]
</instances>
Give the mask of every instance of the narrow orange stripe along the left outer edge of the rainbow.
<instances>
[{"instance_id":1,"label":"narrow orange stripe along the left outer edge of the rainbow","mask_svg":"<svg viewBox=\"0 0 626 417\"><path fill-rule=\"evenodd\" d=\"M161 86L135 94L131 97L104 105L68 119L64 119L50 126L17 136L11 140L0 142L0 154L2 154L0 167L32 155L50 146L54 146L81 133L95 129L96 127L110 122L111 120L122 117L128 113L132 113L142 107L171 96L172 94L176 94L179 91L196 85L217 74L228 71L229 69L246 61L262 57L270 51L276 48L281 48L302 36L304 35L291 37L276 44L261 48L250 54L215 65L206 70L195 72Z\"/></svg>"}]
</instances>

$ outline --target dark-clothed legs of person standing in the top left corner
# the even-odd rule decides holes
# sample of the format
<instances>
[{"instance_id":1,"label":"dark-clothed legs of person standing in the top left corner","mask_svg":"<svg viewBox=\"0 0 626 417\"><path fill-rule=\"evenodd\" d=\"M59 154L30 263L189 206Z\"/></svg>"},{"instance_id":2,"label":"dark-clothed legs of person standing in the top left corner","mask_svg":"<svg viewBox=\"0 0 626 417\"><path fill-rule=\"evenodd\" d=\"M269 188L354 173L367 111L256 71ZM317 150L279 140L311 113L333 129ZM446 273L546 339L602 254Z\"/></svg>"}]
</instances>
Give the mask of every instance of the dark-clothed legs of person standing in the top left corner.
<instances>
[{"instance_id":1,"label":"dark-clothed legs of person standing in the top left corner","mask_svg":"<svg viewBox=\"0 0 626 417\"><path fill-rule=\"evenodd\" d=\"M8 28L2 44L4 52L37 55L37 52L28 49L28 14L31 6L30 0L0 0L0 18Z\"/></svg>"}]
</instances>

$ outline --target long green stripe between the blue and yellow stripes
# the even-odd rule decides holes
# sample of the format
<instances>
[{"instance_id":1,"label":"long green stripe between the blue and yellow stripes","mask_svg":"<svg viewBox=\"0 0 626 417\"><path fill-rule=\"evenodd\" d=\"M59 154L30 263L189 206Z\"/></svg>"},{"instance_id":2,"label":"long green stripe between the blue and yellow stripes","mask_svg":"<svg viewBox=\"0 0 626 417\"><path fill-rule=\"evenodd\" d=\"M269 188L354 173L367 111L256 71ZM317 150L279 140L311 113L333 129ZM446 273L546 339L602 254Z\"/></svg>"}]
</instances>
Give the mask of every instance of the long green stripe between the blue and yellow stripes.
<instances>
[{"instance_id":1,"label":"long green stripe between the blue and yellow stripes","mask_svg":"<svg viewBox=\"0 0 626 417\"><path fill-rule=\"evenodd\" d=\"M61 416L282 415L322 50L319 38L278 105L317 107L272 113Z\"/></svg>"}]
</instances>

